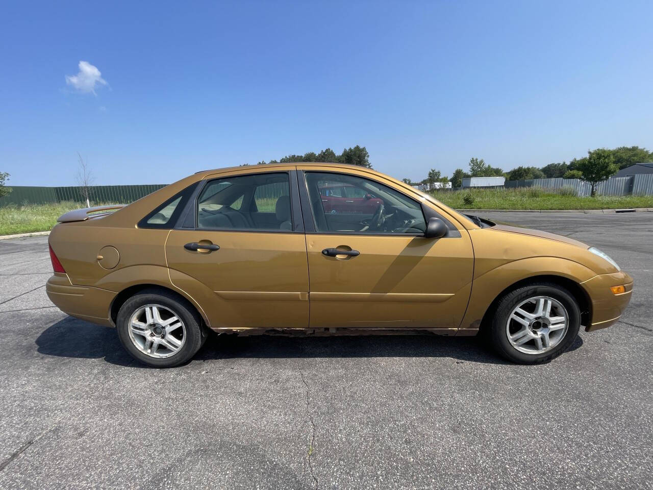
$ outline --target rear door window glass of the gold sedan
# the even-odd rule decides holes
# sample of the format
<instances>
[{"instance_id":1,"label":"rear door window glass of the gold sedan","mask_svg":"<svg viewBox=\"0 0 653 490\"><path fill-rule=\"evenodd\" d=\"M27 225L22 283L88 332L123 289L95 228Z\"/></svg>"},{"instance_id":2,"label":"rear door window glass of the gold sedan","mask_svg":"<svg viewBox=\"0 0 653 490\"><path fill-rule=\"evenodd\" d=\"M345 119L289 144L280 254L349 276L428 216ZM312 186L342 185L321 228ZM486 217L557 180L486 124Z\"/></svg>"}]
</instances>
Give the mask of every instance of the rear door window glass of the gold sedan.
<instances>
[{"instance_id":1,"label":"rear door window glass of the gold sedan","mask_svg":"<svg viewBox=\"0 0 653 490\"><path fill-rule=\"evenodd\" d=\"M197 199L197 227L291 231L287 172L212 180Z\"/></svg>"}]
</instances>

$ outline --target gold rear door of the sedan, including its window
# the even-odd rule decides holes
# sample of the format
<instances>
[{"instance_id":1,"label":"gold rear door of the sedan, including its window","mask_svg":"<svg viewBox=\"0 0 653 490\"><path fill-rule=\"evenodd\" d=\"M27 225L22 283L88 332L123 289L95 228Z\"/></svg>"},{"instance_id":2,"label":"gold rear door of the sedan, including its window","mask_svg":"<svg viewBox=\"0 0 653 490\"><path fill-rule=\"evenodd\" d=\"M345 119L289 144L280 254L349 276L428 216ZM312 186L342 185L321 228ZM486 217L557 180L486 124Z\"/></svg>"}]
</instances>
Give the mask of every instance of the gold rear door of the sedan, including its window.
<instances>
[{"instance_id":1,"label":"gold rear door of the sedan, including its window","mask_svg":"<svg viewBox=\"0 0 653 490\"><path fill-rule=\"evenodd\" d=\"M205 182L191 216L170 231L166 256L173 284L195 297L212 327L308 327L295 167Z\"/></svg>"}]
</instances>

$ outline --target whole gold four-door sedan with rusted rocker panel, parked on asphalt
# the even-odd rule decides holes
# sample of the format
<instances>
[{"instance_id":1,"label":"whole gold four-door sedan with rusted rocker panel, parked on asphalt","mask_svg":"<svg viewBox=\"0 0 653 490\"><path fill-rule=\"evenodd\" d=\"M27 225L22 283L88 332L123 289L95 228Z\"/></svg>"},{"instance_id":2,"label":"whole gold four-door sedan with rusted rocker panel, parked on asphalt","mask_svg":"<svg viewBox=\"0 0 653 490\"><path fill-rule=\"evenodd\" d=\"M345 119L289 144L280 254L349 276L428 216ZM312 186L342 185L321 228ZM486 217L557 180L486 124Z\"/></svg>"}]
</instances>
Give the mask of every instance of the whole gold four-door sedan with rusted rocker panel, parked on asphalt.
<instances>
[{"instance_id":1,"label":"whole gold four-door sedan with rusted rocker panel, parked on asphalt","mask_svg":"<svg viewBox=\"0 0 653 490\"><path fill-rule=\"evenodd\" d=\"M115 325L156 367L191 359L208 330L481 332L503 357L542 363L581 325L612 325L633 287L596 248L332 163L199 172L129 206L64 214L49 241L52 302Z\"/></svg>"}]
</instances>

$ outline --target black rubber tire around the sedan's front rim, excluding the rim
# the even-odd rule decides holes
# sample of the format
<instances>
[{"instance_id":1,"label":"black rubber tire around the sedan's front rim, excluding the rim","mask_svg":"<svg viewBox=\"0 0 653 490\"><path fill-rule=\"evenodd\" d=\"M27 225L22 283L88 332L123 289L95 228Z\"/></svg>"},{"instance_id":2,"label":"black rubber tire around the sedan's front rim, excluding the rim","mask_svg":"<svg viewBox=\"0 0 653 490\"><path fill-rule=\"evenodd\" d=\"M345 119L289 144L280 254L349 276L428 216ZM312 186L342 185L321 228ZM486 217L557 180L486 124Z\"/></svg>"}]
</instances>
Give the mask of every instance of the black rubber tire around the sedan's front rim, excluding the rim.
<instances>
[{"instance_id":1,"label":"black rubber tire around the sedan's front rim, excluding the rim","mask_svg":"<svg viewBox=\"0 0 653 490\"><path fill-rule=\"evenodd\" d=\"M513 347L508 340L505 326L513 308L515 308L515 306L520 302L534 296L547 296L559 301L562 306L564 306L565 310L567 310L569 325L567 327L567 333L565 333L564 338L557 346L540 354L527 354L518 351ZM517 363L533 364L549 361L567 350L571 344L573 344L580 327L581 310L573 295L563 287L540 284L517 289L516 291L506 295L502 301L499 302L492 323L491 335L494 346L496 346L498 351L500 351L504 357Z\"/></svg>"}]
</instances>

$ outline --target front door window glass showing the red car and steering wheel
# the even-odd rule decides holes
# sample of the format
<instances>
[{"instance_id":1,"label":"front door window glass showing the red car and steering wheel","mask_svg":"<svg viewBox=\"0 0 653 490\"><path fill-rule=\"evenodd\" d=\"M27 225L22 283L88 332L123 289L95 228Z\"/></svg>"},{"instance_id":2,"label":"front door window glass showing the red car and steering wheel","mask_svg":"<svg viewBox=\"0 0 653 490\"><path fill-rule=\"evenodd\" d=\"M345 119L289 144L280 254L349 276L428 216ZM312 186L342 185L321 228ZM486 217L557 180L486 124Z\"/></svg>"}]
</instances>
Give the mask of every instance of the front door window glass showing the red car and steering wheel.
<instances>
[{"instance_id":1,"label":"front door window glass showing the red car and steering wheel","mask_svg":"<svg viewBox=\"0 0 653 490\"><path fill-rule=\"evenodd\" d=\"M374 180L331 172L305 172L306 186L321 233L421 234L422 206Z\"/></svg>"}]
</instances>

